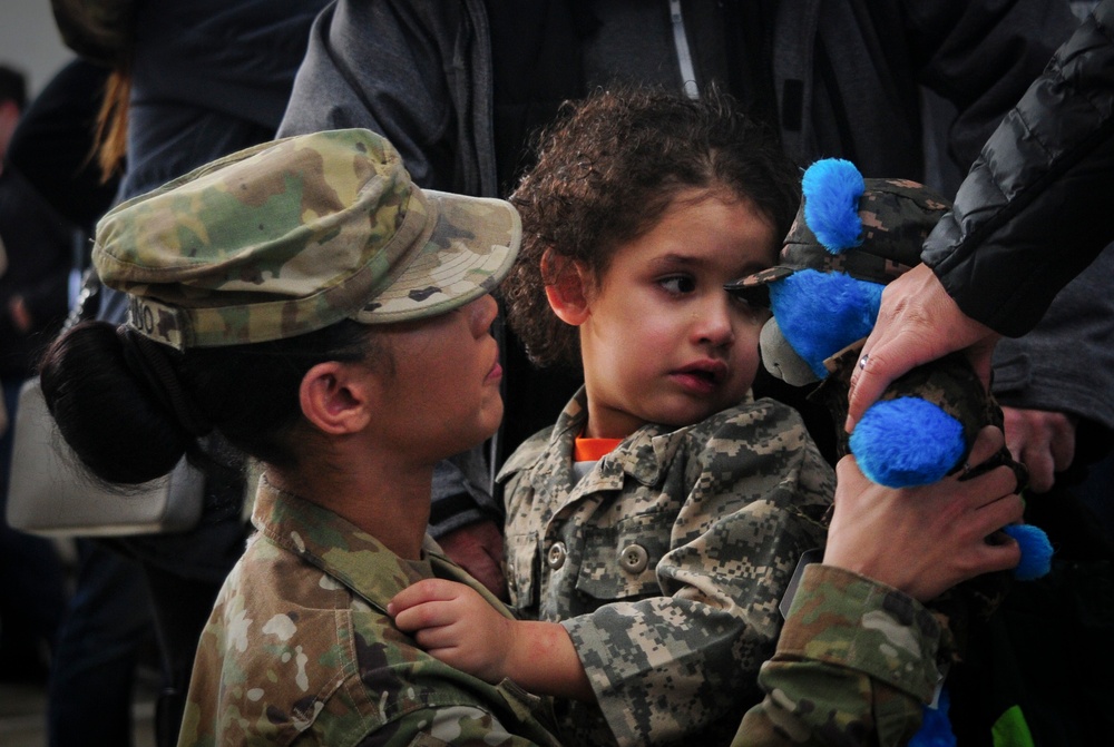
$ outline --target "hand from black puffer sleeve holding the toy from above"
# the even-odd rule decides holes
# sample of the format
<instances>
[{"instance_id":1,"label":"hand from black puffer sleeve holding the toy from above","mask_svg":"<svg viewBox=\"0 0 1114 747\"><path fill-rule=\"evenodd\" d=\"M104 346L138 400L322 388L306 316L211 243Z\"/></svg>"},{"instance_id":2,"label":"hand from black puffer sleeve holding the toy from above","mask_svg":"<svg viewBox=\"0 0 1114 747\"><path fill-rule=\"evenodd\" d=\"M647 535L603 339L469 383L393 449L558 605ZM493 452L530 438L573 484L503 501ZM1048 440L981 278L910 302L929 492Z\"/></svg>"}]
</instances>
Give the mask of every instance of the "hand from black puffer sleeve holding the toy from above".
<instances>
[{"instance_id":1,"label":"hand from black puffer sleeve holding the toy from above","mask_svg":"<svg viewBox=\"0 0 1114 747\"><path fill-rule=\"evenodd\" d=\"M898 376L948 353L967 350L984 385L998 334L964 314L928 265L917 265L882 291L878 322L851 374L848 432Z\"/></svg>"}]
</instances>

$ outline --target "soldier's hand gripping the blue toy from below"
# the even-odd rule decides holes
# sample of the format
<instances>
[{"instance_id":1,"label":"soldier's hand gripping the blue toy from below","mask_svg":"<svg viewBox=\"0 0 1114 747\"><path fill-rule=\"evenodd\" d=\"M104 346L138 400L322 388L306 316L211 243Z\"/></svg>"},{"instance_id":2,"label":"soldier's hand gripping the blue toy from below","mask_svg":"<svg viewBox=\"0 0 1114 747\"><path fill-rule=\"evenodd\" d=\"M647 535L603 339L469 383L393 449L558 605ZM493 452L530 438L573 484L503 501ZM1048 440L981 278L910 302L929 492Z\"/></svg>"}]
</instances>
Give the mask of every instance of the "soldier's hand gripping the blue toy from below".
<instances>
[{"instance_id":1,"label":"soldier's hand gripping the blue toy from below","mask_svg":"<svg viewBox=\"0 0 1114 747\"><path fill-rule=\"evenodd\" d=\"M1001 448L996 427L984 429L971 464ZM870 482L851 455L836 466L836 509L824 563L889 584L927 601L960 581L1017 566L1017 543L998 530L1020 521L1017 480L999 466L969 480L960 473L918 488ZM993 541L987 538L993 537Z\"/></svg>"}]
</instances>

